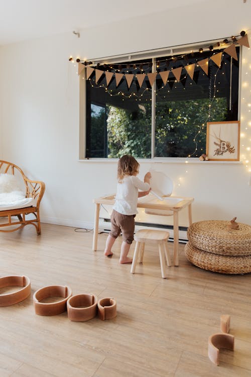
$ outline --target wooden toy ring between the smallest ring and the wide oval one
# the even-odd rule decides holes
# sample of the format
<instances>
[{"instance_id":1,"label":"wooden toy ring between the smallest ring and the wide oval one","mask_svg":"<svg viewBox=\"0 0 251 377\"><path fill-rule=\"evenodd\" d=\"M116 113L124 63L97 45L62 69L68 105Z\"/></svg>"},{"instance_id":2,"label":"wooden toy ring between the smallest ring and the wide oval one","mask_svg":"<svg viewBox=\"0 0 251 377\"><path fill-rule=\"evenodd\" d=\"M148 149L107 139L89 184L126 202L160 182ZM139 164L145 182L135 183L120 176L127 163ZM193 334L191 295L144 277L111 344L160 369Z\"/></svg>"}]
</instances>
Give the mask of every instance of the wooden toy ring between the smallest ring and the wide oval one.
<instances>
[{"instance_id":1,"label":"wooden toy ring between the smallest ring and the wide oval one","mask_svg":"<svg viewBox=\"0 0 251 377\"><path fill-rule=\"evenodd\" d=\"M68 318L71 321L84 322L97 314L97 297L92 294L75 295L67 301Z\"/></svg>"}]
</instances>

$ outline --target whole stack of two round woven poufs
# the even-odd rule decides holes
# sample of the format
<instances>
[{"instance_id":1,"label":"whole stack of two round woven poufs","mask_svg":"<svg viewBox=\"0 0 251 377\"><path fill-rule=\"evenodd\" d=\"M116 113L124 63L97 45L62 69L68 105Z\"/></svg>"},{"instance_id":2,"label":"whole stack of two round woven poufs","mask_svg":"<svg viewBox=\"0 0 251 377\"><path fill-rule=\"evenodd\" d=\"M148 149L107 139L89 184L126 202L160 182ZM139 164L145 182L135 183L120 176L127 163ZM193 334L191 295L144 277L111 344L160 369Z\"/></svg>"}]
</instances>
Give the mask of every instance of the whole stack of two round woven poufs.
<instances>
[{"instance_id":1,"label":"whole stack of two round woven poufs","mask_svg":"<svg viewBox=\"0 0 251 377\"><path fill-rule=\"evenodd\" d=\"M229 229L229 221L208 220L187 229L187 259L214 272L237 274L251 272L251 226L239 224Z\"/></svg>"}]
</instances>

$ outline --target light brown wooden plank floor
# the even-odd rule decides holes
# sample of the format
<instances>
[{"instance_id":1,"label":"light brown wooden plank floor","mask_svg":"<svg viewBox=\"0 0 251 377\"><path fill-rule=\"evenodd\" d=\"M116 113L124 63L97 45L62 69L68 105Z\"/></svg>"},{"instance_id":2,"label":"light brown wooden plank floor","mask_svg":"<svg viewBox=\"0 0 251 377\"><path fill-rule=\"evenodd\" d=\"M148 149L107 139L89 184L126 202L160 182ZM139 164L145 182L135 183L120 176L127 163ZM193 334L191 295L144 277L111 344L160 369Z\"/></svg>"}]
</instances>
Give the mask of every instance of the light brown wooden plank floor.
<instances>
[{"instance_id":1,"label":"light brown wooden plank floor","mask_svg":"<svg viewBox=\"0 0 251 377\"><path fill-rule=\"evenodd\" d=\"M0 275L25 274L32 285L28 299L0 308L1 377L250 377L251 274L197 268L180 244L180 266L169 267L167 279L161 278L158 251L148 246L133 275L131 265L118 263L121 238L113 257L103 256L106 237L99 235L93 252L92 232L70 227L42 224L41 236L33 226L0 233ZM117 317L78 323L67 313L38 316L32 296L48 285L113 297ZM220 331L222 314L231 316L235 350L222 350L215 366L207 341Z\"/></svg>"}]
</instances>

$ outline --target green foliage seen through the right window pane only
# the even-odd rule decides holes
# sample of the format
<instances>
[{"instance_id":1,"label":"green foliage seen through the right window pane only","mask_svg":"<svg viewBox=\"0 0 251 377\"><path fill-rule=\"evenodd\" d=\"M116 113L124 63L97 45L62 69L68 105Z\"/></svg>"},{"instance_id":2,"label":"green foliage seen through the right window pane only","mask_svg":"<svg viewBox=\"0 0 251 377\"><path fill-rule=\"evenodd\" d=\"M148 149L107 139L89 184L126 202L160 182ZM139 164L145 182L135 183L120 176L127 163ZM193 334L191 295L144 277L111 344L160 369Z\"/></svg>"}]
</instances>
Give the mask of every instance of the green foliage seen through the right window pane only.
<instances>
[{"instance_id":1,"label":"green foliage seen through the right window pane only","mask_svg":"<svg viewBox=\"0 0 251 377\"><path fill-rule=\"evenodd\" d=\"M206 122L223 121L226 99L213 102L209 115L209 100L186 100L158 103L156 106L156 157L187 157L196 149L194 157L205 153ZM200 130L200 127L203 129Z\"/></svg>"}]
</instances>

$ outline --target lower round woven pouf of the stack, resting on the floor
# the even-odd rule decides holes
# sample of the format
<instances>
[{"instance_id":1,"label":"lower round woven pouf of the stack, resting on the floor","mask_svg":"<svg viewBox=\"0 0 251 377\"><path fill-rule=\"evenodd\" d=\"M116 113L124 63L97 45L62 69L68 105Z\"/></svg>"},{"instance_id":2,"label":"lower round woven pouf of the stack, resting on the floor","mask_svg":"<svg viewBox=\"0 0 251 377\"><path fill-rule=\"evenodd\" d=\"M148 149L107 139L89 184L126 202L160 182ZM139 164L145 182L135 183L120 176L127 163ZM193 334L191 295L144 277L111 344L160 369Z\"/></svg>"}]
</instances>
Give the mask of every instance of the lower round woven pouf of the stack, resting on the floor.
<instances>
[{"instance_id":1,"label":"lower round woven pouf of the stack, resting on the floor","mask_svg":"<svg viewBox=\"0 0 251 377\"><path fill-rule=\"evenodd\" d=\"M251 272L251 255L219 255L200 250L190 241L185 246L187 259L197 267L219 273L237 274Z\"/></svg>"}]
</instances>

